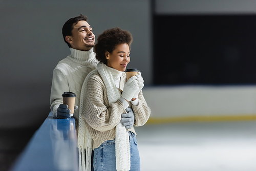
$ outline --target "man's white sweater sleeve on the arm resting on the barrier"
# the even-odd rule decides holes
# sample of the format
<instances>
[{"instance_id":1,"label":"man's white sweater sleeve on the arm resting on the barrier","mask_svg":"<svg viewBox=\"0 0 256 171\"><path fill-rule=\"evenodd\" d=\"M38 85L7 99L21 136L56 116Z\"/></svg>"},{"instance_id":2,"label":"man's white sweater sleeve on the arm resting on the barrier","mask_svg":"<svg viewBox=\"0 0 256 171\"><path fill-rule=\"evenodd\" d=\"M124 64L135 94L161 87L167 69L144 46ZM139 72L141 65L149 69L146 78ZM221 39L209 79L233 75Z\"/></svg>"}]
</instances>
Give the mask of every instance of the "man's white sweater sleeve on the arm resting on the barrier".
<instances>
[{"instance_id":1,"label":"man's white sweater sleeve on the arm resting on the barrier","mask_svg":"<svg viewBox=\"0 0 256 171\"><path fill-rule=\"evenodd\" d=\"M57 108L59 104L62 104L62 94L63 92L69 91L69 84L66 76L63 72L55 68L53 70L53 77L52 77L52 88L51 88L51 97L50 97L50 104L51 104L51 111L52 116L57 118Z\"/></svg>"}]
</instances>

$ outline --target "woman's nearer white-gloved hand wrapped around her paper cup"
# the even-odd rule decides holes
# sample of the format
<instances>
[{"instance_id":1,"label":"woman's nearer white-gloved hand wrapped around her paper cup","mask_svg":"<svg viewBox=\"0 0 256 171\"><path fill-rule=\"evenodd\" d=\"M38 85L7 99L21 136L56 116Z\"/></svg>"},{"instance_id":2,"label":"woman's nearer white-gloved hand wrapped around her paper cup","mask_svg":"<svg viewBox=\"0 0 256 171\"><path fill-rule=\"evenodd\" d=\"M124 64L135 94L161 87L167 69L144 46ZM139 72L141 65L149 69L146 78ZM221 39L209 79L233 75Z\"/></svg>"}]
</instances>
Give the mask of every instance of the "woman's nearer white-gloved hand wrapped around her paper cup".
<instances>
[{"instance_id":1,"label":"woman's nearer white-gloved hand wrapped around her paper cup","mask_svg":"<svg viewBox=\"0 0 256 171\"><path fill-rule=\"evenodd\" d=\"M139 90L139 84L137 81L137 77L131 77L123 87L122 97L127 101L131 101L134 94Z\"/></svg>"}]
</instances>

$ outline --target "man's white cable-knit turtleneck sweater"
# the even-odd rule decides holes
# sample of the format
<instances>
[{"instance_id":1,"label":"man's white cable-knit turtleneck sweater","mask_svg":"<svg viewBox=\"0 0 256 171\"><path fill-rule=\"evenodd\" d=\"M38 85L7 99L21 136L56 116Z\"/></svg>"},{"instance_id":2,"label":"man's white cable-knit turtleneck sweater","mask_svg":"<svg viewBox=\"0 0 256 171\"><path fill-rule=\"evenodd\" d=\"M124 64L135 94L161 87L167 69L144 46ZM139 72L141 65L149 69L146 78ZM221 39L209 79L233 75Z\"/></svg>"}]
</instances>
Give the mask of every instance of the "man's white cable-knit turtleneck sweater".
<instances>
[{"instance_id":1,"label":"man's white cable-knit turtleneck sweater","mask_svg":"<svg viewBox=\"0 0 256 171\"><path fill-rule=\"evenodd\" d=\"M70 51L71 54L59 61L53 70L50 104L54 118L57 117L59 104L63 103L63 92L75 93L75 105L79 106L82 83L86 76L96 69L98 63L93 48L90 51L70 48ZM78 119L78 111L74 112L74 116Z\"/></svg>"}]
</instances>

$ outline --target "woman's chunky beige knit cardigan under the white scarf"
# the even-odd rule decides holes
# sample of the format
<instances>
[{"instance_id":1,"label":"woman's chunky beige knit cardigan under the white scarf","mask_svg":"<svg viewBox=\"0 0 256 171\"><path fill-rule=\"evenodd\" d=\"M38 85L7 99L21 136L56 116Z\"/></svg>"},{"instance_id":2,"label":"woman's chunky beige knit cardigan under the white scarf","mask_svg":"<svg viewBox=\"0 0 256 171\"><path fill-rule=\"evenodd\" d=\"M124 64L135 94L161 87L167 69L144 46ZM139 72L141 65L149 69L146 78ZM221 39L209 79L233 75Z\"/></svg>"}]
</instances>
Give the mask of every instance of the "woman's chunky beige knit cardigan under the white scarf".
<instances>
[{"instance_id":1,"label":"woman's chunky beige knit cardigan under the white scarf","mask_svg":"<svg viewBox=\"0 0 256 171\"><path fill-rule=\"evenodd\" d=\"M122 73L120 79L120 95L126 82L126 74ZM93 149L97 148L106 140L113 140L116 134L116 125L121 120L121 114L127 113L120 100L110 104L106 87L98 72L91 75L87 81L86 97L84 97L82 117L86 121L89 133L93 139ZM140 91L137 106L129 102L135 116L134 126L142 126L150 117L151 110ZM127 132L136 134L134 127Z\"/></svg>"}]
</instances>

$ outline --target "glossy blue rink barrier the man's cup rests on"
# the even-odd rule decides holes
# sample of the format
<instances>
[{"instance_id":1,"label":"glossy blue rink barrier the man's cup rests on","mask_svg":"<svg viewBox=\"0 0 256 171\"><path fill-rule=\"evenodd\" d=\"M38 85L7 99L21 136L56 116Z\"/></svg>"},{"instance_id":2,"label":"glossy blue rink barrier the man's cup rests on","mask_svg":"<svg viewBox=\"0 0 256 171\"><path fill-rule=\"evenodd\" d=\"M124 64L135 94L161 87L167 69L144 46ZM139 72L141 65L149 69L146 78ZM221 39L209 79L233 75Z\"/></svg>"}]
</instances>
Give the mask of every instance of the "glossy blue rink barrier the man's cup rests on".
<instances>
[{"instance_id":1,"label":"glossy blue rink barrier the man's cup rests on","mask_svg":"<svg viewBox=\"0 0 256 171\"><path fill-rule=\"evenodd\" d=\"M53 119L50 113L11 170L78 170L75 119Z\"/></svg>"}]
</instances>

